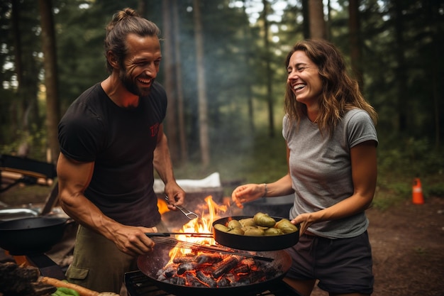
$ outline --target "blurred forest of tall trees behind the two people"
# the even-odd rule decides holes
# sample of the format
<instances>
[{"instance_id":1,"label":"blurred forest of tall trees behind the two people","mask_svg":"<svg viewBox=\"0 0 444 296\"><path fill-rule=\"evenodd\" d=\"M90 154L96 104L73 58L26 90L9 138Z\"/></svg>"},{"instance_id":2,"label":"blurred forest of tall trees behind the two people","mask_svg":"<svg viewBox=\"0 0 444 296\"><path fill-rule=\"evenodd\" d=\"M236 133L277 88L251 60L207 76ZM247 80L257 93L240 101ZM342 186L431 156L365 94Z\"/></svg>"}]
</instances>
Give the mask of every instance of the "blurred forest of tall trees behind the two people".
<instances>
[{"instance_id":1,"label":"blurred forest of tall trees behind the two people","mask_svg":"<svg viewBox=\"0 0 444 296\"><path fill-rule=\"evenodd\" d=\"M107 76L104 28L124 7L162 31L157 81L177 178L225 185L287 172L284 60L325 38L379 114L375 205L444 197L444 1L10 0L0 2L0 153L55 163L57 123ZM230 192L227 192L230 194Z\"/></svg>"}]
</instances>

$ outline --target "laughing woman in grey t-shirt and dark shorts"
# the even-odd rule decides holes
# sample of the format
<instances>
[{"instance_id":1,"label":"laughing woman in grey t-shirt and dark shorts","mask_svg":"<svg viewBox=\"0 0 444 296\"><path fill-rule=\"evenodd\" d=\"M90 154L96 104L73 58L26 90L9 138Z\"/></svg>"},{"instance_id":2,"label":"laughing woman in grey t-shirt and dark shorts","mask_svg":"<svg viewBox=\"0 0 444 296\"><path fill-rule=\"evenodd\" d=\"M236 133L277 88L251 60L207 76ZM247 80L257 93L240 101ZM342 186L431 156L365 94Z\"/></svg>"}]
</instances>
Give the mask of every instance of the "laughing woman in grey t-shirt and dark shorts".
<instances>
[{"instance_id":1,"label":"laughing woman in grey t-shirt and dark shorts","mask_svg":"<svg viewBox=\"0 0 444 296\"><path fill-rule=\"evenodd\" d=\"M304 40L287 56L282 134L289 172L268 184L237 187L242 207L294 192L289 217L300 226L285 278L309 296L316 280L329 295L370 295L372 251L365 209L377 180L377 114L326 40Z\"/></svg>"}]
</instances>

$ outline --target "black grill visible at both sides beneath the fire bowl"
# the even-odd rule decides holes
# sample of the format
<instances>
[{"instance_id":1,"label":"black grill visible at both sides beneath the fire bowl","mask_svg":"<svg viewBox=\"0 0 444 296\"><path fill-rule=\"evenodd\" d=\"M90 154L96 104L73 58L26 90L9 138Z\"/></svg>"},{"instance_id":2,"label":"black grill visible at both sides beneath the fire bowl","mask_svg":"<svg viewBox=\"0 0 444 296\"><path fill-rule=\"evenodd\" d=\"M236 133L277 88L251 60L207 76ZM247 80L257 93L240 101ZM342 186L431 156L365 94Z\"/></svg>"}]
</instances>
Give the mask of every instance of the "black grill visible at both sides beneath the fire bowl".
<instances>
[{"instance_id":1,"label":"black grill visible at both sides beneath the fire bowl","mask_svg":"<svg viewBox=\"0 0 444 296\"><path fill-rule=\"evenodd\" d=\"M125 285L129 296L181 296L172 295L168 292L160 290L155 283L144 275L140 270L125 273ZM292 287L279 281L267 287L262 292L252 292L252 294L243 294L243 296L301 296Z\"/></svg>"}]
</instances>

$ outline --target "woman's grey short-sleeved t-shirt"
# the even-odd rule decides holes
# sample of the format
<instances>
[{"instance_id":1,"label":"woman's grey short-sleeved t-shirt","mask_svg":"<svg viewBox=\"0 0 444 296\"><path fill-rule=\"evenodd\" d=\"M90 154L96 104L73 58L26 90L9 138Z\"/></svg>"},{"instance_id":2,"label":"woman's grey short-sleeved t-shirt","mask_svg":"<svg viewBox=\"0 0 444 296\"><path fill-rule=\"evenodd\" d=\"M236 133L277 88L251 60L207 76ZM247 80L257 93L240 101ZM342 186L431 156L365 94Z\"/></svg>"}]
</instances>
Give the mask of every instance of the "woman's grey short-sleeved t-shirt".
<instances>
[{"instance_id":1,"label":"woman's grey short-sleeved t-shirt","mask_svg":"<svg viewBox=\"0 0 444 296\"><path fill-rule=\"evenodd\" d=\"M282 135L290 150L289 170L295 199L289 216L331 207L353 194L350 148L375 141L377 133L369 114L362 109L347 111L333 135L321 133L308 118L299 126L284 116ZM369 224L365 212L343 219L322 221L309 227L311 233L329 239L362 234Z\"/></svg>"}]
</instances>

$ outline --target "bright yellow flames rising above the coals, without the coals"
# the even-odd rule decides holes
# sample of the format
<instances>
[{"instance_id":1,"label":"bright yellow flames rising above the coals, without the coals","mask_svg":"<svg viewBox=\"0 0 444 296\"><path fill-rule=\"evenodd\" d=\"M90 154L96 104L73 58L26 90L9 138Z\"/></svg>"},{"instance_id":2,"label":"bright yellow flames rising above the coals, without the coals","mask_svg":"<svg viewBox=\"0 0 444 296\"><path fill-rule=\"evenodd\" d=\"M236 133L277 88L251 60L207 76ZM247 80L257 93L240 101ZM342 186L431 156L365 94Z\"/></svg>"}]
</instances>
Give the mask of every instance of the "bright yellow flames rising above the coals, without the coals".
<instances>
[{"instance_id":1,"label":"bright yellow flames rising above the coals, without the coals","mask_svg":"<svg viewBox=\"0 0 444 296\"><path fill-rule=\"evenodd\" d=\"M196 210L196 214L200 214L200 218L190 220L178 232L199 234L211 234L213 232L213 221L219 219L221 217L219 214L225 213L228 206L216 204L211 195L204 200L206 204L199 205L199 209ZM211 246L216 243L212 237L190 236L189 234L179 234L176 236L176 239L189 243L199 243L204 246ZM192 250L187 248L172 248L170 251L170 262L176 256L186 256L192 252Z\"/></svg>"}]
</instances>

